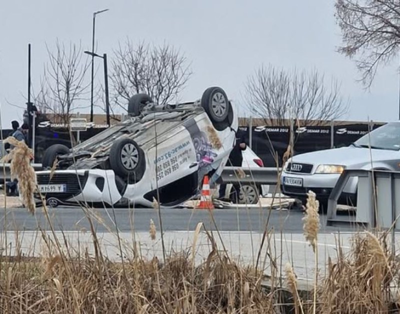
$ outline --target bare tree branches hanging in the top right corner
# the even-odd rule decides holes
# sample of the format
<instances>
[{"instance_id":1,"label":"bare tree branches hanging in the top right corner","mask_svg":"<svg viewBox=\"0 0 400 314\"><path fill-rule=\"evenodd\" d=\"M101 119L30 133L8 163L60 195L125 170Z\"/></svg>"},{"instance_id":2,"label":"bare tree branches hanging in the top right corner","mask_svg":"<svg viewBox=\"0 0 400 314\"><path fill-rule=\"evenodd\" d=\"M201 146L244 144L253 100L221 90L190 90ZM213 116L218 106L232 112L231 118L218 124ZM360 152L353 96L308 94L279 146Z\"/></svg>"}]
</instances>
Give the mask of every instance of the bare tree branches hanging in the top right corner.
<instances>
[{"instance_id":1,"label":"bare tree branches hanging in the top right corner","mask_svg":"<svg viewBox=\"0 0 400 314\"><path fill-rule=\"evenodd\" d=\"M338 51L355 59L361 81L369 87L379 64L397 56L400 43L398 0L336 0L335 17L343 45Z\"/></svg>"}]
</instances>

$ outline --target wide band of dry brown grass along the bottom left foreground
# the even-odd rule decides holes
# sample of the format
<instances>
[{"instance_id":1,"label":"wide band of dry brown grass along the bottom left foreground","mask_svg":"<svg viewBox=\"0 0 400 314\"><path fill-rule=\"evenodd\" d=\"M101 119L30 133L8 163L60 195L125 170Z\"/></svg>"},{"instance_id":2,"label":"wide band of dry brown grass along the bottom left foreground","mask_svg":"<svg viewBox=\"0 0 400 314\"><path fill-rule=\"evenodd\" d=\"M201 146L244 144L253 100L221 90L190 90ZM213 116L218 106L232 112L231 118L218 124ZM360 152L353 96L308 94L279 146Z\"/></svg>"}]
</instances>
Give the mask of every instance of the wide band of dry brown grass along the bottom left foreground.
<instances>
[{"instance_id":1,"label":"wide band of dry brown grass along the bottom left foreground","mask_svg":"<svg viewBox=\"0 0 400 314\"><path fill-rule=\"evenodd\" d=\"M2 313L274 313L255 272L213 252L102 262L82 254L2 262ZM69 274L72 274L71 276ZM73 298L77 298L77 302Z\"/></svg>"}]
</instances>

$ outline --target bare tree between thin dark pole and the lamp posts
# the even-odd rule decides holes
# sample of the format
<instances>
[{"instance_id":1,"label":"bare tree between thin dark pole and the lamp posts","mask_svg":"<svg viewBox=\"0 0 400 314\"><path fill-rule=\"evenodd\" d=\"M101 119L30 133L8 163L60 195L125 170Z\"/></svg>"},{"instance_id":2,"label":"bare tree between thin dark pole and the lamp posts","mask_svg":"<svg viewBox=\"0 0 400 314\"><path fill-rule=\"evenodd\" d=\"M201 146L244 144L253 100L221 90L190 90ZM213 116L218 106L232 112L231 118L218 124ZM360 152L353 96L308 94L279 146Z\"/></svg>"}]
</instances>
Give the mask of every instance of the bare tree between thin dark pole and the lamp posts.
<instances>
[{"instance_id":1,"label":"bare tree between thin dark pole and the lamp posts","mask_svg":"<svg viewBox=\"0 0 400 314\"><path fill-rule=\"evenodd\" d=\"M34 101L41 112L54 113L61 123L68 123L77 102L89 86L84 76L89 68L88 59L82 60L81 45L69 43L68 47L56 41L55 51L46 45L48 62L44 65L39 91Z\"/></svg>"}]
</instances>

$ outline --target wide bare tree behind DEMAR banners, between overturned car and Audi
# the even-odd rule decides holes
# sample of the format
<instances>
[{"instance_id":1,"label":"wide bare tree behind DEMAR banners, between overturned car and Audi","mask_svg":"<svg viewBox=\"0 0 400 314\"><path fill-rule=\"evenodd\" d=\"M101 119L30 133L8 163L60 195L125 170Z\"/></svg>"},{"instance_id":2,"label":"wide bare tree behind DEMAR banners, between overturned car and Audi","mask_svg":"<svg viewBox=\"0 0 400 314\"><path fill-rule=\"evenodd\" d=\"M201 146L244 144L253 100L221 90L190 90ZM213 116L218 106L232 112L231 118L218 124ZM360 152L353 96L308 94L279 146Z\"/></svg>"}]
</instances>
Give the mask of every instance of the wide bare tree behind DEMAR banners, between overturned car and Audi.
<instances>
[{"instance_id":1,"label":"wide bare tree behind DEMAR banners, between overturned car and Audi","mask_svg":"<svg viewBox=\"0 0 400 314\"><path fill-rule=\"evenodd\" d=\"M252 113L269 123L286 125L288 119L297 118L315 125L346 112L339 87L334 79L326 87L323 75L316 70L288 72L261 66L247 78L244 97Z\"/></svg>"}]
</instances>

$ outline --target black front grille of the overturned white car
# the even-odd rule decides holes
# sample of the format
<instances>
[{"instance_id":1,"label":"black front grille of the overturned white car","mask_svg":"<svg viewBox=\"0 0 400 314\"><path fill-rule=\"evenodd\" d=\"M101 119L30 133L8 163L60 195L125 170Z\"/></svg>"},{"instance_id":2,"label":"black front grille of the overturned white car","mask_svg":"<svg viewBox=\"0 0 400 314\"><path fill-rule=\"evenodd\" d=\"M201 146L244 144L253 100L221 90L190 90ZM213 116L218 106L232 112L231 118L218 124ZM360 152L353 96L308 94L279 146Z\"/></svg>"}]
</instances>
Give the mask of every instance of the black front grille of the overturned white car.
<instances>
[{"instance_id":1,"label":"black front grille of the overturned white car","mask_svg":"<svg viewBox=\"0 0 400 314\"><path fill-rule=\"evenodd\" d=\"M57 173L55 172L50 179L50 173L36 174L37 184L66 184L66 191L61 193L47 192L46 195L57 195L57 196L72 196L79 194L83 189L86 179L87 172L85 174L76 173Z\"/></svg>"}]
</instances>

